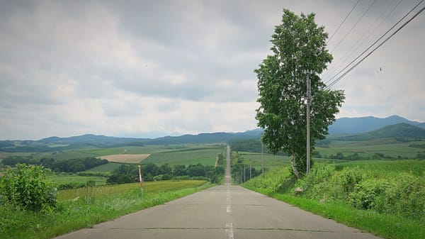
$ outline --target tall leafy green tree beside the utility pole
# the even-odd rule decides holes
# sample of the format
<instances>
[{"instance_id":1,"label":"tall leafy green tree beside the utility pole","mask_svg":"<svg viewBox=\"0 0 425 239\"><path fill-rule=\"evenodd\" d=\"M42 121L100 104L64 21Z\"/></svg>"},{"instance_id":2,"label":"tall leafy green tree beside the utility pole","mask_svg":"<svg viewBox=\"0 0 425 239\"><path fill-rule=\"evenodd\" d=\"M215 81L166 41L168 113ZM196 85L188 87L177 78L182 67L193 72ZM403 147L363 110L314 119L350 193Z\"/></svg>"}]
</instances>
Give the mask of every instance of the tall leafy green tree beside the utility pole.
<instances>
[{"instance_id":1,"label":"tall leafy green tree beside the utility pole","mask_svg":"<svg viewBox=\"0 0 425 239\"><path fill-rule=\"evenodd\" d=\"M306 171L307 75L312 70L310 109L311 150L314 140L324 139L344 102L344 91L325 89L319 74L332 55L326 49L327 33L314 22L314 13L297 16L283 9L282 23L271 36L271 51L254 70L259 79L258 126L264 128L263 143L276 153L292 155L293 172L300 178Z\"/></svg>"}]
</instances>

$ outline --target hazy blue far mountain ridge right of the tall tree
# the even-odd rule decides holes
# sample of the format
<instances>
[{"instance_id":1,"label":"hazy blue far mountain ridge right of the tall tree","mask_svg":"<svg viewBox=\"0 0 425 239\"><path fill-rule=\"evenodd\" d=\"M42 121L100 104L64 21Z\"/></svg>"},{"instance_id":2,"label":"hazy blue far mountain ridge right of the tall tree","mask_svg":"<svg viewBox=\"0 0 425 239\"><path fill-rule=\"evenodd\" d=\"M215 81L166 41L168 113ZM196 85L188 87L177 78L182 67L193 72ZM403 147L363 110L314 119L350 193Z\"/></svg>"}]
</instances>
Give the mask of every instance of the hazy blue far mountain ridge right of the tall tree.
<instances>
[{"instance_id":1,"label":"hazy blue far mountain ridge right of the tall tree","mask_svg":"<svg viewBox=\"0 0 425 239\"><path fill-rule=\"evenodd\" d=\"M408 123L412 126L425 128L425 123L409 121L400 116L390 116L387 118L376 118L373 116L360 118L339 118L329 126L330 135L365 133L371 130L377 130L385 126L395 125L397 123Z\"/></svg>"}]
</instances>

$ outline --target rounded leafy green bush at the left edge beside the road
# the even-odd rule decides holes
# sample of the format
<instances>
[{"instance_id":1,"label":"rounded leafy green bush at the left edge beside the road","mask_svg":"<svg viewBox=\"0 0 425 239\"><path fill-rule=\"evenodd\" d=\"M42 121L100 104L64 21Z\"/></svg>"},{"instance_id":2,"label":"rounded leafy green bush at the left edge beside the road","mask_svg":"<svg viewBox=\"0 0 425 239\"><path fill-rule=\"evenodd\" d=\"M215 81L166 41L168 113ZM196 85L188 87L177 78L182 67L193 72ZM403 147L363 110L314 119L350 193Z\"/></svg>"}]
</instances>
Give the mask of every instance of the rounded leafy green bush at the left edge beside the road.
<instances>
[{"instance_id":1,"label":"rounded leafy green bush at the left edge beside the road","mask_svg":"<svg viewBox=\"0 0 425 239\"><path fill-rule=\"evenodd\" d=\"M30 211L50 210L57 206L57 189L47 179L42 166L21 165L7 169L0 179L0 194L6 202Z\"/></svg>"}]
</instances>

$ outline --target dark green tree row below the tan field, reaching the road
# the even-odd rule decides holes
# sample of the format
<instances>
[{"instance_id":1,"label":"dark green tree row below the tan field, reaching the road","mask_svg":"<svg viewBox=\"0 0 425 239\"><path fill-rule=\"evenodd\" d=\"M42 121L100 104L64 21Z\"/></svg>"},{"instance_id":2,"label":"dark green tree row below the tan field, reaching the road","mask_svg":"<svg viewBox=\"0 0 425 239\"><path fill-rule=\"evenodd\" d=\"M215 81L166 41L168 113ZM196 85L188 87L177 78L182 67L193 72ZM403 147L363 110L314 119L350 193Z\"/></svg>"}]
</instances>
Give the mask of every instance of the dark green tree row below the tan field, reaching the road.
<instances>
[{"instance_id":1,"label":"dark green tree row below the tan field, reaching the road","mask_svg":"<svg viewBox=\"0 0 425 239\"><path fill-rule=\"evenodd\" d=\"M212 183L219 183L224 177L225 167L202 165L155 165L148 163L141 165L142 179L145 182L169 179L207 179ZM107 184L125 184L139 181L137 165L120 165L106 180Z\"/></svg>"}]
</instances>

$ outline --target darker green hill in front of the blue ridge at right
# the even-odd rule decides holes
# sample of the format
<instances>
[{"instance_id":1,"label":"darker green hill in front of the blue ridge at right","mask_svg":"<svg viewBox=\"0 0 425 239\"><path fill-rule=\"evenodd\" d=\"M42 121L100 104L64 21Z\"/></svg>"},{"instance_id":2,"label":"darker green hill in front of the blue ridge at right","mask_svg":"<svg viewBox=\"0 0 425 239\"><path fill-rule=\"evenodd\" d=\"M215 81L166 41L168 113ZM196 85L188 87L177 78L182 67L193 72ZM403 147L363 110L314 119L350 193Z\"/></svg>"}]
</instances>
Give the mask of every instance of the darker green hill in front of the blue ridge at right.
<instances>
[{"instance_id":1,"label":"darker green hill in front of the blue ridge at right","mask_svg":"<svg viewBox=\"0 0 425 239\"><path fill-rule=\"evenodd\" d=\"M424 140L425 129L420 128L418 126L412 126L409 123L397 123L391 126L385 126L378 130L372 130L367 133L346 135L335 139L348 141L363 141L380 138L396 138L398 140Z\"/></svg>"}]
</instances>

